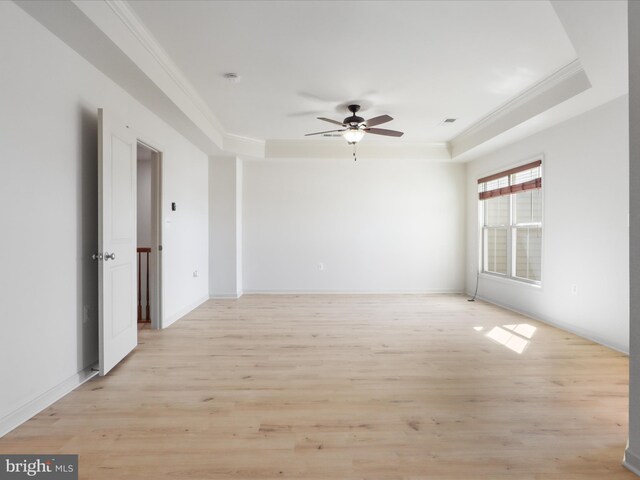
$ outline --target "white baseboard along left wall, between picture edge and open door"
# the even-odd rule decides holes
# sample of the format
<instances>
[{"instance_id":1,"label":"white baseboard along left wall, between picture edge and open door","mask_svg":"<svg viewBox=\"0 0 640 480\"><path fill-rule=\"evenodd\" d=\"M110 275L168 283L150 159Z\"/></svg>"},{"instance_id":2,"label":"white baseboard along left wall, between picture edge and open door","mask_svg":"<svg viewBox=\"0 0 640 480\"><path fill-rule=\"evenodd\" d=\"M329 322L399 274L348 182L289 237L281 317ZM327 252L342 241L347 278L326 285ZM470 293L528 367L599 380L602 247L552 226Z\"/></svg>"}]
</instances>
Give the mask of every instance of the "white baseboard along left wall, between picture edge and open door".
<instances>
[{"instance_id":1,"label":"white baseboard along left wall, between picture edge and open door","mask_svg":"<svg viewBox=\"0 0 640 480\"><path fill-rule=\"evenodd\" d=\"M62 397L72 392L84 382L91 380L98 374L98 365L92 365L72 375L62 383L47 390L42 395L34 398L27 404L0 419L0 437L5 436L11 430L19 427L27 420L35 417L44 409L50 407Z\"/></svg>"}]
</instances>

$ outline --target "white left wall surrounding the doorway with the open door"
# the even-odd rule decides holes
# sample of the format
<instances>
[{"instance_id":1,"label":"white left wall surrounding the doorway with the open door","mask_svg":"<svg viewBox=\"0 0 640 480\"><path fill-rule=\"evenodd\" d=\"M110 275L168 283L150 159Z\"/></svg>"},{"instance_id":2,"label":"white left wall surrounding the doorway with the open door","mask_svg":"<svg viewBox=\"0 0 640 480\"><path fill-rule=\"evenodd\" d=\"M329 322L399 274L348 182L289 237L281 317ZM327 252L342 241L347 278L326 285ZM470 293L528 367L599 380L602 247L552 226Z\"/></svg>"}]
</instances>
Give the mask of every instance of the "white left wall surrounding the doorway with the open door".
<instances>
[{"instance_id":1,"label":"white left wall surrounding the doorway with the open door","mask_svg":"<svg viewBox=\"0 0 640 480\"><path fill-rule=\"evenodd\" d=\"M179 206L165 214L167 323L207 297L208 167L205 154L12 2L0 2L0 44L1 429L97 360L96 109L164 152L163 208Z\"/></svg>"}]
</instances>

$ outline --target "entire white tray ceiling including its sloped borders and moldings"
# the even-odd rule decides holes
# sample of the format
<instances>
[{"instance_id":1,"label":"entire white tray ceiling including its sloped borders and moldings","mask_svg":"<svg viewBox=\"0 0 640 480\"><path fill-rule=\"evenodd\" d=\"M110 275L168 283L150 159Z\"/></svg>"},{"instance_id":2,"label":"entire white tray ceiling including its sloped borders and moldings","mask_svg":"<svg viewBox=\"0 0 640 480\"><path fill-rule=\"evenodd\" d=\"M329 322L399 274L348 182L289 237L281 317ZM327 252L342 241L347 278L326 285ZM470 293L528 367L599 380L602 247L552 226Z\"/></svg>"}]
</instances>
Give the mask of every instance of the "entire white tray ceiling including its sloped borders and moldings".
<instances>
[{"instance_id":1,"label":"entire white tray ceiling including its sloped borders and moldings","mask_svg":"<svg viewBox=\"0 0 640 480\"><path fill-rule=\"evenodd\" d=\"M17 5L209 155L345 158L304 134L355 102L406 132L359 157L468 161L628 92L626 0Z\"/></svg>"}]
</instances>

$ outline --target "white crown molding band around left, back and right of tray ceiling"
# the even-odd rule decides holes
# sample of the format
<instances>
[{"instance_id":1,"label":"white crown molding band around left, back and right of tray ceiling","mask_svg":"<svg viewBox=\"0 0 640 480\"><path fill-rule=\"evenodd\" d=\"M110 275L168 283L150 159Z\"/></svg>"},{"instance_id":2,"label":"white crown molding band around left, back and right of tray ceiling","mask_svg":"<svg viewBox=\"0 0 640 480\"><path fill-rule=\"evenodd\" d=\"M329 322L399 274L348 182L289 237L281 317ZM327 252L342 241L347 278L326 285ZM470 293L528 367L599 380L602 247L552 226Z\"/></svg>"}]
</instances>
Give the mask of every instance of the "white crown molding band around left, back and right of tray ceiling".
<instances>
[{"instance_id":1,"label":"white crown molding band around left, back and right of tray ceiling","mask_svg":"<svg viewBox=\"0 0 640 480\"><path fill-rule=\"evenodd\" d=\"M352 154L351 148L330 139L265 141L225 131L207 103L138 18L130 3L126 0L71 0L71 3L120 50L123 57L132 62L135 67L131 68L139 72L140 78L144 76L145 81L151 82L149 88L153 87L158 95L164 96L165 103L175 108L176 115L180 112L182 120L174 121L178 124L176 128L183 134L188 131L189 138L198 139L206 153L257 158L344 158L345 151ZM582 65L574 60L490 112L448 143L377 144L365 141L358 145L357 153L361 158L451 160L460 157L462 161L463 154L472 153L475 147L590 87Z\"/></svg>"}]
</instances>

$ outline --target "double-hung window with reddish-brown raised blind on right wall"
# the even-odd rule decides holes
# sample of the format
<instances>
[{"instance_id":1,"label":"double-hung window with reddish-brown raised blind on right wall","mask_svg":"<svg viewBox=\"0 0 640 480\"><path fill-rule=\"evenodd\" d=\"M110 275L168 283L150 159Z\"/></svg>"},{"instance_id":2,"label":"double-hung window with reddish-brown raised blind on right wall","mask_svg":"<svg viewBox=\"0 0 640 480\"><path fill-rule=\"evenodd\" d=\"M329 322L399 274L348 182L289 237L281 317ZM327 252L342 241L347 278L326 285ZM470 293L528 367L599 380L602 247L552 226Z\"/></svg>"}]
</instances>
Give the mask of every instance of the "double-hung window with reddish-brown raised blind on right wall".
<instances>
[{"instance_id":1,"label":"double-hung window with reddish-brown raised blind on right wall","mask_svg":"<svg viewBox=\"0 0 640 480\"><path fill-rule=\"evenodd\" d=\"M542 279L542 161L478 180L481 271L539 284Z\"/></svg>"}]
</instances>

